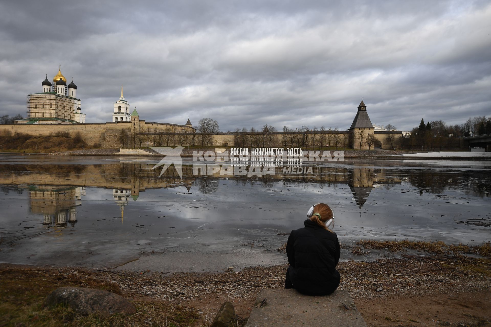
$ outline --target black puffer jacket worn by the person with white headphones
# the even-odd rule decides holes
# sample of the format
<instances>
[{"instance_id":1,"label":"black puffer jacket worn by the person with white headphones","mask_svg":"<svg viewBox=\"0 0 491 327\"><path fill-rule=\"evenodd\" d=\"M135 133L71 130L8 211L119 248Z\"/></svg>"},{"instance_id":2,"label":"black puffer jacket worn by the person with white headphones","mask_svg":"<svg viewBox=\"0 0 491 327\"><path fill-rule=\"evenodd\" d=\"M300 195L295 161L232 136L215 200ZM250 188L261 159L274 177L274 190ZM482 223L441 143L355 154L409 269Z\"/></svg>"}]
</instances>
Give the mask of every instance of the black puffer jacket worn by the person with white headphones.
<instances>
[{"instance_id":1,"label":"black puffer jacket worn by the person with white headphones","mask_svg":"<svg viewBox=\"0 0 491 327\"><path fill-rule=\"evenodd\" d=\"M293 287L307 295L327 295L339 285L339 241L330 232L307 219L305 227L292 230L286 253Z\"/></svg>"}]
</instances>

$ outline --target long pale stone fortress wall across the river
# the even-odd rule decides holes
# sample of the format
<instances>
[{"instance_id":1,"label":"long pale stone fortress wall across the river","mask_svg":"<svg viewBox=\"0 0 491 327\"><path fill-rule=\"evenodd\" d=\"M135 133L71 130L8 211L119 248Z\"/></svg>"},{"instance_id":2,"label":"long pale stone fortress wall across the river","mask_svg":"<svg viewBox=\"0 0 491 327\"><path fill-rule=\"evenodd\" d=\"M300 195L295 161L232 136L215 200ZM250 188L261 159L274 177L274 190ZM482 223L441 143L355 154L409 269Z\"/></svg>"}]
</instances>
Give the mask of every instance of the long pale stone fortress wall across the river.
<instances>
[{"instance_id":1,"label":"long pale stone fortress wall across the river","mask_svg":"<svg viewBox=\"0 0 491 327\"><path fill-rule=\"evenodd\" d=\"M202 133L197 133L190 126L167 124L167 123L151 123L139 120L137 122L137 131L143 139L142 146L146 146L147 134L150 146L158 146L159 144L154 144L154 135L161 134L160 145L161 146L199 146L201 145ZM107 123L86 123L86 124L32 124L32 125L21 125L21 124L6 124L0 125L0 135L16 135L17 133L29 134L33 136L38 135L55 135L57 132L68 132L70 136L74 137L77 133L80 133L82 139L90 146L95 143L101 145L102 148L116 149L121 148L121 142L119 141L119 136L121 130L125 130L127 135L130 136L133 129L133 122L107 122ZM391 132L374 132L372 130L367 130L366 134L371 133L374 135L375 139L380 143L375 145L382 149L391 149L389 135L392 135L393 142L392 145L397 148L398 139L402 135L401 131L391 131ZM164 134L164 135L163 135ZM166 135L165 135L166 134ZM324 134L324 135L322 135ZM345 135L348 134L348 135ZM250 146L250 144L236 144L237 138L241 138L242 133L235 132L222 132L208 135L209 142L208 145L212 145L218 148L222 147L238 147L238 146ZM270 146L281 146L283 147L285 143L287 145L295 142L305 142L308 146L312 146L315 142L316 146L321 144L321 138L323 138L323 147L326 147L328 138L331 139L331 147L337 146L343 148L343 143L347 147L354 147L359 149L359 140L356 139L356 131L306 131L306 132L255 132L255 133L245 133L245 137L250 140L251 137L258 139L256 144L261 147ZM315 137L315 141L313 141ZM168 139L168 142L167 142ZM193 142L194 139L194 142ZM286 139L286 142L285 142ZM304 141L302 141L304 140ZM129 147L127 144L126 147ZM373 149L373 145L371 149ZM361 150L366 150L368 147L366 144L362 144Z\"/></svg>"}]
</instances>

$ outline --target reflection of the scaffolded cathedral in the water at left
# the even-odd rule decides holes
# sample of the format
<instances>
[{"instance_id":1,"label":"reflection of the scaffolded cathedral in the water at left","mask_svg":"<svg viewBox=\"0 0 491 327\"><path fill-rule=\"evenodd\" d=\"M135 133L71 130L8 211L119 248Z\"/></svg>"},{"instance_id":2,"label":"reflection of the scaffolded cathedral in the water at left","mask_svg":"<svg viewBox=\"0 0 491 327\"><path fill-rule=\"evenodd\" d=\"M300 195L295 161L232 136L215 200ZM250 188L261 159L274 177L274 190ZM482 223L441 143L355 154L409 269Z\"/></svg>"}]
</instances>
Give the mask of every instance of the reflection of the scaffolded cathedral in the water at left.
<instances>
[{"instance_id":1,"label":"reflection of the scaffolded cathedral in the water at left","mask_svg":"<svg viewBox=\"0 0 491 327\"><path fill-rule=\"evenodd\" d=\"M73 227L84 195L85 187L35 186L29 190L29 211L42 214L43 225L64 227L68 222Z\"/></svg>"}]
</instances>

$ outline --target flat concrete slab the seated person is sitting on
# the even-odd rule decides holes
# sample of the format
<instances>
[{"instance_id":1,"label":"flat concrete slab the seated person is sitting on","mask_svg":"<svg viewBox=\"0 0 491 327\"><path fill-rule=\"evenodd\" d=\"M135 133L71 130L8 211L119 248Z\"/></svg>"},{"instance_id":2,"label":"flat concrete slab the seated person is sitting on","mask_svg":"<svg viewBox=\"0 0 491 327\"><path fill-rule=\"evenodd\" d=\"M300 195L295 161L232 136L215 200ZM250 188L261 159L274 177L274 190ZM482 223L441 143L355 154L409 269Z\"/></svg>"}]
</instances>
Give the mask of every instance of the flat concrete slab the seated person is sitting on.
<instances>
[{"instance_id":1,"label":"flat concrete slab the seated person is sitting on","mask_svg":"<svg viewBox=\"0 0 491 327\"><path fill-rule=\"evenodd\" d=\"M266 302L261 306L261 302ZM346 291L308 296L294 289L262 290L246 327L336 326L366 327L355 302Z\"/></svg>"}]
</instances>

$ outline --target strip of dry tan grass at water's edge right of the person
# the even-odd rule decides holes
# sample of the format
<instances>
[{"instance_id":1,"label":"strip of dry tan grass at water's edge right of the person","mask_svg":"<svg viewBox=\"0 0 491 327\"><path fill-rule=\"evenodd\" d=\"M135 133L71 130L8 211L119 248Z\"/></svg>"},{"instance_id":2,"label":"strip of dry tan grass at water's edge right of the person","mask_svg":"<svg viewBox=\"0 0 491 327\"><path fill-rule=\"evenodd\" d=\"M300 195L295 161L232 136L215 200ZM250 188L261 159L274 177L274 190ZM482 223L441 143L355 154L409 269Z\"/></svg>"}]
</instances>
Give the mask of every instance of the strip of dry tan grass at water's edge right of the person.
<instances>
[{"instance_id":1,"label":"strip of dry tan grass at water's edge right of the person","mask_svg":"<svg viewBox=\"0 0 491 327\"><path fill-rule=\"evenodd\" d=\"M421 252L429 252L435 254L443 254L453 252L453 254L461 253L476 253L482 256L491 255L490 242L484 242L481 246L469 247L462 243L446 245L442 241L409 241L408 239L403 241L376 241L376 240L361 240L356 242L357 245L363 246L365 249L376 250L389 250L392 252L399 252L404 249L411 249ZM353 253L353 252L352 252Z\"/></svg>"}]
</instances>

